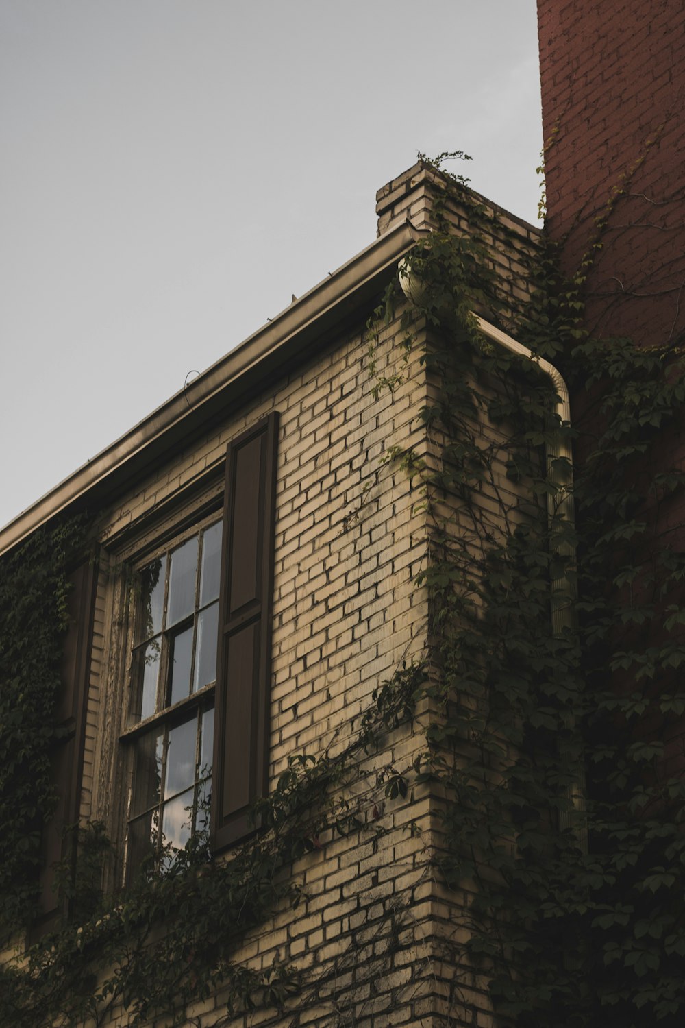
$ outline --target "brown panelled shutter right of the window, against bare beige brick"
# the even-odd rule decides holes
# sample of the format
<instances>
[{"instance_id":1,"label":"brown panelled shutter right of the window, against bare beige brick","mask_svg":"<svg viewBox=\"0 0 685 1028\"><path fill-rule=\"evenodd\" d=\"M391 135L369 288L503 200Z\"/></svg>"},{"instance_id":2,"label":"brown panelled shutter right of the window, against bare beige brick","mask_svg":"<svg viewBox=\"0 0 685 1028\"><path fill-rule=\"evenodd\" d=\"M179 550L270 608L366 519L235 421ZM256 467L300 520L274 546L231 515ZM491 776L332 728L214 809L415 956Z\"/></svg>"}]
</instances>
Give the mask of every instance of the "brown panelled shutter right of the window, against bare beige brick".
<instances>
[{"instance_id":1,"label":"brown panelled shutter right of the window, against bare beige brick","mask_svg":"<svg viewBox=\"0 0 685 1028\"><path fill-rule=\"evenodd\" d=\"M268 781L271 609L278 413L229 443L226 455L212 844L252 828Z\"/></svg>"}]
</instances>

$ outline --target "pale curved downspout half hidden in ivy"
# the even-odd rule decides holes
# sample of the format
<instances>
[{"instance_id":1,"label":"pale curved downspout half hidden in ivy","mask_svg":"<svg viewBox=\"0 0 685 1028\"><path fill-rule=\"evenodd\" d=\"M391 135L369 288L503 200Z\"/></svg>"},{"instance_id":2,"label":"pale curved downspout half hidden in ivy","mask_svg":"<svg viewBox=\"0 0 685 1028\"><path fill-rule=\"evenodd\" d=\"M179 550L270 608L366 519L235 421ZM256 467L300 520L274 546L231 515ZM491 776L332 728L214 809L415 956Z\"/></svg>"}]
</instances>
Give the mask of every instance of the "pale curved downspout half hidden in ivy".
<instances>
[{"instance_id":1,"label":"pale curved downspout half hidden in ivy","mask_svg":"<svg viewBox=\"0 0 685 1028\"><path fill-rule=\"evenodd\" d=\"M399 284L405 296L412 303L416 304L417 302L420 302L420 296L418 293L423 292L423 290L421 287L417 290L415 281L412 281L409 274L407 258L401 261L398 271ZM502 332L501 329L491 325L490 322L487 322L484 318L472 314L472 311L469 311L469 314L471 314L471 317L475 320L479 331L481 331L486 338L491 339L493 342L496 342L505 350L508 350L509 353L517 354L518 356L523 357L531 363L537 365L540 371L547 376L557 395L555 412L559 417L560 426L564 424L568 425L571 420L569 391L561 371L559 371L554 364L550 364L549 361L536 357L536 355L533 354L528 346L524 346L523 343L513 339L510 335L507 335L506 332ZM554 441L546 442L545 462L549 480L559 488L558 492L547 493L548 524L551 526L554 524L555 517L561 516L564 521L573 525L575 517L573 510L573 464L570 441L559 434ZM562 556L570 557L571 559L575 556L575 548L570 543L560 542L557 550ZM566 598L562 598L560 602L555 602L555 596ZM575 611L572 602L572 600L576 597L575 582L569 579L566 575L553 578L551 597L551 627L554 633L556 635L561 635L566 629L573 630L576 626ZM572 782L567 792L567 798L577 814L582 814L585 810L584 778L584 769L581 764L577 769L575 781ZM587 828L584 822L584 818L581 819L579 823L577 818L574 818L573 820L576 821L576 835L578 843L582 851L587 852ZM570 828L571 822L572 818L570 813L568 815L560 814L559 823L561 829Z\"/></svg>"}]
</instances>

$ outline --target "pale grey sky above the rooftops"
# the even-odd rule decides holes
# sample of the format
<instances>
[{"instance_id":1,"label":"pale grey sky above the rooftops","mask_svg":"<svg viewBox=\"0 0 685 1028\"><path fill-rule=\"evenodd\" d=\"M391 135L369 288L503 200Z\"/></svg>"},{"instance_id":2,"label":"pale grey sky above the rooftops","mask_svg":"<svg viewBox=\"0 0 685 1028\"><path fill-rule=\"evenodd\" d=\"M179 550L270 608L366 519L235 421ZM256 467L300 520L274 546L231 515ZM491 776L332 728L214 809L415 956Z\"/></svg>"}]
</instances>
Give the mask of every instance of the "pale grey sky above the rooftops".
<instances>
[{"instance_id":1,"label":"pale grey sky above the rooftops","mask_svg":"<svg viewBox=\"0 0 685 1028\"><path fill-rule=\"evenodd\" d=\"M417 151L536 223L535 0L0 0L0 526L376 237Z\"/></svg>"}]
</instances>

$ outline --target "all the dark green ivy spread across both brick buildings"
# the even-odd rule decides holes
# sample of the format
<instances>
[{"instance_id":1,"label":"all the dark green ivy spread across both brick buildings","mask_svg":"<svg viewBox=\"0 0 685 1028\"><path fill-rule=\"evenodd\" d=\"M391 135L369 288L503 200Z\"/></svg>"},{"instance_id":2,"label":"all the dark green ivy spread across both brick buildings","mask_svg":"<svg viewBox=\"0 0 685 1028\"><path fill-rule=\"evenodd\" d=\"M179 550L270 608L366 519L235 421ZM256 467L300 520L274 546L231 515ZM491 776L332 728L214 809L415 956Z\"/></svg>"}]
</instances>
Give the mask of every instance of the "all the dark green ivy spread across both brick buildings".
<instances>
[{"instance_id":1,"label":"all the dark green ivy spread across both brick buildings","mask_svg":"<svg viewBox=\"0 0 685 1028\"><path fill-rule=\"evenodd\" d=\"M123 1002L132 1024L162 1013L182 1025L187 1004L219 985L236 1009L278 1008L305 994L315 971L280 964L257 972L233 954L246 931L302 900L297 861L347 833L378 838L381 825L363 814L359 797L375 796L379 783L388 802L411 801L425 785L441 797L432 867L467 929L465 939L442 939L457 991L485 983L502 1024L520 1028L677 1023L685 546L675 505L685 475L668 449L685 400L685 355L589 337L584 269L563 282L554 253L531 258L534 295L512 307L492 263L496 216L466 180L441 170L464 156L420 155L434 176L435 231L403 273L420 281L421 294L403 306L394 284L369 326L376 396L398 387L416 339L426 339L428 396L417 412L425 446L385 455L411 478L425 517L427 555L415 583L428 597L425 662L401 667L359 721L341 726L347 736L335 756L291 760L255 810L262 830L228 861L213 861L196 837L174 861L145 868L125 897L96 904L104 842L91 827L81 846L91 873L77 886L87 893L84 914L25 962L5 965L0 1023L98 1024ZM459 235L449 222L455 201L468 222ZM398 305L404 346L381 373L378 337ZM473 310L524 340L533 359L486 339ZM556 413L539 359L556 362L581 398L572 427ZM573 485L565 458L545 455L561 437L576 449ZM32 537L10 558L1 597L10 730L0 756L17 818L0 867L20 883L7 908L15 928L30 909L20 866L26 853L35 865L50 809L49 728L36 698L44 688L49 708L73 546L66 528L55 533ZM13 714L25 694L31 715L25 707ZM418 707L429 711L422 751L411 767L376 768L372 783L366 755ZM36 730L30 745L27 725ZM23 783L27 761L33 791ZM446 1023L455 1023L449 1014Z\"/></svg>"}]
</instances>

